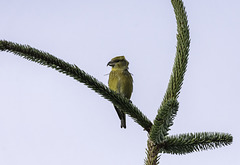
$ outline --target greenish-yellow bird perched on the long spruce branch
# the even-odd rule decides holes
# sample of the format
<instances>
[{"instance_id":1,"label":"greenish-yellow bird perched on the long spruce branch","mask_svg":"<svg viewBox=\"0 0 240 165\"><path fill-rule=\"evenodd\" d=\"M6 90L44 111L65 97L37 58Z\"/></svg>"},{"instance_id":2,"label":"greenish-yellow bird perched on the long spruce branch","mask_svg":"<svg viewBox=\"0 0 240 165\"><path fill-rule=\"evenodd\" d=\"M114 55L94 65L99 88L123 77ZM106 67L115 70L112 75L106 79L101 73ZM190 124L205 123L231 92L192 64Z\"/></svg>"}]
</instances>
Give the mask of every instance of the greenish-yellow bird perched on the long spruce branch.
<instances>
[{"instance_id":1,"label":"greenish-yellow bird perched on the long spruce branch","mask_svg":"<svg viewBox=\"0 0 240 165\"><path fill-rule=\"evenodd\" d=\"M108 86L111 90L130 99L133 91L133 79L128 71L129 62L124 56L114 57L107 65L112 67L109 74ZM121 120L121 128L126 128L126 114L114 106Z\"/></svg>"}]
</instances>

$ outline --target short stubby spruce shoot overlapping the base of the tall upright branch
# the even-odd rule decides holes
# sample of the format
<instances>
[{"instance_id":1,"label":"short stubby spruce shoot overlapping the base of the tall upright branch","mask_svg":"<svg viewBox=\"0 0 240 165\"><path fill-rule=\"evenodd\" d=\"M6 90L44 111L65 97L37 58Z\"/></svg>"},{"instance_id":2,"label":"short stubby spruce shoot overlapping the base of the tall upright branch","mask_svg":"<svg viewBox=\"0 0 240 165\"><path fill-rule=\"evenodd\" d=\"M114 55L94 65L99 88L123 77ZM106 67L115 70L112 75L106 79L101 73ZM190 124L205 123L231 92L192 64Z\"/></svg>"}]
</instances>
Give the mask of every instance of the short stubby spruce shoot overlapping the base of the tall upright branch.
<instances>
[{"instance_id":1,"label":"short stubby spruce shoot overlapping the base of the tall upright branch","mask_svg":"<svg viewBox=\"0 0 240 165\"><path fill-rule=\"evenodd\" d=\"M173 120L177 115L178 105L179 103L176 99L169 99L158 110L150 131L150 139L155 144L161 143L168 135L169 127L173 125Z\"/></svg>"}]
</instances>

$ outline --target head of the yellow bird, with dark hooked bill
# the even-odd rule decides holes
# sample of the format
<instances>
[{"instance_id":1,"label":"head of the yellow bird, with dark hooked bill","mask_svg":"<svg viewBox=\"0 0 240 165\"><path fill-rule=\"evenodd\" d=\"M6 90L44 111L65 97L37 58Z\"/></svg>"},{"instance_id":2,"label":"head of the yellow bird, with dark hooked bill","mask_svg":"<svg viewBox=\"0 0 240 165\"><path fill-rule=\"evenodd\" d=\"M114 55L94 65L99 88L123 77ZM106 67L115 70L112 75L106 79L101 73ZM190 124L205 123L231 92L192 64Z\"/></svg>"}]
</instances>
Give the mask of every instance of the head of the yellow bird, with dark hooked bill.
<instances>
[{"instance_id":1,"label":"head of the yellow bird, with dark hooked bill","mask_svg":"<svg viewBox=\"0 0 240 165\"><path fill-rule=\"evenodd\" d=\"M117 56L111 59L107 66L111 66L113 69L128 69L128 64L124 56Z\"/></svg>"}]
</instances>

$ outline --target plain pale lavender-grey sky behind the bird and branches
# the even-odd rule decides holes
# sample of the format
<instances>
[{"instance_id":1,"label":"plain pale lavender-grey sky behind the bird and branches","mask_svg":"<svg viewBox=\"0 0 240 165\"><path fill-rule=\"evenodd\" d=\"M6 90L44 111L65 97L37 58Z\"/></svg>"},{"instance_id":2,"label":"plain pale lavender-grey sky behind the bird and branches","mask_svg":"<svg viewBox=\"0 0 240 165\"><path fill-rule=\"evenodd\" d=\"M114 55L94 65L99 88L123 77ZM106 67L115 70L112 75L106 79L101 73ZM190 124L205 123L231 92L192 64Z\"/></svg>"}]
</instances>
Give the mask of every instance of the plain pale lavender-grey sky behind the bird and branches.
<instances>
[{"instance_id":1,"label":"plain pale lavender-grey sky behind the bird and branches","mask_svg":"<svg viewBox=\"0 0 240 165\"><path fill-rule=\"evenodd\" d=\"M240 161L240 1L184 0L190 56L170 135L225 132L233 144L162 165ZM170 0L1 0L0 39L28 44L76 64L107 84L111 58L130 62L132 102L153 120L176 51ZM147 134L112 104L57 71L0 52L1 165L143 164Z\"/></svg>"}]
</instances>

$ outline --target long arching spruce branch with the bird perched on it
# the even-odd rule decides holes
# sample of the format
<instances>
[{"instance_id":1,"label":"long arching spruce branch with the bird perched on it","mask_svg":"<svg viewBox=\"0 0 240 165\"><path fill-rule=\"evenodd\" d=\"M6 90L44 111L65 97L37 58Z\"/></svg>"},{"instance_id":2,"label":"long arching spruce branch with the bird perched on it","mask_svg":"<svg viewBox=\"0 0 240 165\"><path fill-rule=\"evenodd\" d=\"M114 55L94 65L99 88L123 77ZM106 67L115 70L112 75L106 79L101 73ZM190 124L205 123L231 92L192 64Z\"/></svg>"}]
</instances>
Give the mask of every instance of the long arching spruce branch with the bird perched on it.
<instances>
[{"instance_id":1,"label":"long arching spruce branch with the bird perched on it","mask_svg":"<svg viewBox=\"0 0 240 165\"><path fill-rule=\"evenodd\" d=\"M51 67L74 78L100 94L105 99L111 101L114 105L121 108L126 114L133 118L133 120L141 125L146 131L150 131L152 122L135 105L125 97L110 90L96 78L79 69L76 65L69 64L49 53L37 50L28 45L20 45L5 40L0 40L0 51L11 52L29 61Z\"/></svg>"}]
</instances>

